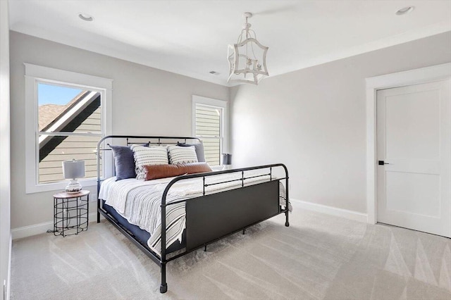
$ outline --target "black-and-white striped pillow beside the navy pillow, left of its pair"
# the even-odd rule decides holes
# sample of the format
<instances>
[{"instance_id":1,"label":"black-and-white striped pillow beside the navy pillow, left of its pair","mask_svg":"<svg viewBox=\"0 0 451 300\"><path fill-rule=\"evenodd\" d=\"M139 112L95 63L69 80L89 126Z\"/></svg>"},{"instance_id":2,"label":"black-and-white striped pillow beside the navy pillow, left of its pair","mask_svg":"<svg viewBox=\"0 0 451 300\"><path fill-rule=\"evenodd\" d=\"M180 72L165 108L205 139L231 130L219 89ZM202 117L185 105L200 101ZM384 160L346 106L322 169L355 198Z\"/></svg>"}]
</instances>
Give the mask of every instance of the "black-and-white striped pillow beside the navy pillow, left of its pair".
<instances>
[{"instance_id":1,"label":"black-and-white striped pillow beside the navy pillow, left of its pair","mask_svg":"<svg viewBox=\"0 0 451 300\"><path fill-rule=\"evenodd\" d=\"M135 173L137 180L146 178L144 165L167 165L168 152L165 146L144 147L133 144L130 147L135 158Z\"/></svg>"}]
</instances>

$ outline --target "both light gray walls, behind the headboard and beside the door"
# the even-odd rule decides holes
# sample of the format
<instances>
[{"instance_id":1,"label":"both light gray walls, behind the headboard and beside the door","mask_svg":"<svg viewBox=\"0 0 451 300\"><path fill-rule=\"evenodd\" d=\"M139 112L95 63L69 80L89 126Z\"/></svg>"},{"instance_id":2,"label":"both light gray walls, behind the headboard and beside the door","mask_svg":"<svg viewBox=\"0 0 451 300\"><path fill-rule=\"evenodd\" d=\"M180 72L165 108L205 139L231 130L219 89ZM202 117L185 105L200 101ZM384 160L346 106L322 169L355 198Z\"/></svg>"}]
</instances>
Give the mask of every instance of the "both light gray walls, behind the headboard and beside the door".
<instances>
[{"instance_id":1,"label":"both light gray walls, behind the headboard and beside the door","mask_svg":"<svg viewBox=\"0 0 451 300\"><path fill-rule=\"evenodd\" d=\"M269 77L257 87L228 89L17 32L10 35L12 228L51 221L54 194L25 194L24 62L113 79L114 134L191 135L192 94L230 98L235 166L285 163L293 199L366 213L364 79L451 61L451 32L446 32Z\"/></svg>"}]
</instances>

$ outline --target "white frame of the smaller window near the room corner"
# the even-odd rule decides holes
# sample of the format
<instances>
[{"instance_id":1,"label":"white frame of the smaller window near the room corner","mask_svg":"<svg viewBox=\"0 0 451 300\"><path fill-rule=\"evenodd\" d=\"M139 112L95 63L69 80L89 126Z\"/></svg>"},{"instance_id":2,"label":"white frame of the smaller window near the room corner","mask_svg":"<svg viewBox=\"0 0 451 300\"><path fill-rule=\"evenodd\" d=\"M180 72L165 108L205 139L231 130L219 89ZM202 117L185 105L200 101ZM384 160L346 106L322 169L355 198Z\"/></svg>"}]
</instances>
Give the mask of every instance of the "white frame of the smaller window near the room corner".
<instances>
[{"instance_id":1,"label":"white frame of the smaller window near the room corner","mask_svg":"<svg viewBox=\"0 0 451 300\"><path fill-rule=\"evenodd\" d=\"M211 108L221 108L221 130L219 132L219 165L211 165L218 167L222 165L221 154L228 152L228 101L207 98L204 96L192 95L192 136L196 136L196 106L209 106ZM208 137L199 136L199 139L208 139Z\"/></svg>"}]
</instances>

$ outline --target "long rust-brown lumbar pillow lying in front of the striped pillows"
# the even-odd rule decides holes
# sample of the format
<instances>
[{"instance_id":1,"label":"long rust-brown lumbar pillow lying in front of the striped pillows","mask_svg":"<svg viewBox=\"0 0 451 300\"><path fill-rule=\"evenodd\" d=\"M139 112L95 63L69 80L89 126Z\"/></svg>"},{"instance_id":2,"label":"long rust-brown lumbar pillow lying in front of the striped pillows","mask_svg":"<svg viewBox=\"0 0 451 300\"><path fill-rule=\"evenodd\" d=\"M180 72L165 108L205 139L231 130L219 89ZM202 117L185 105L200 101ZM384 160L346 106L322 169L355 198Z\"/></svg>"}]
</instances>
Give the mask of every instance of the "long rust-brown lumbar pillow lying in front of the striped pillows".
<instances>
[{"instance_id":1,"label":"long rust-brown lumbar pillow lying in front of the striped pillows","mask_svg":"<svg viewBox=\"0 0 451 300\"><path fill-rule=\"evenodd\" d=\"M181 163L178 165L144 165L146 180L211 172L208 163Z\"/></svg>"}]
</instances>

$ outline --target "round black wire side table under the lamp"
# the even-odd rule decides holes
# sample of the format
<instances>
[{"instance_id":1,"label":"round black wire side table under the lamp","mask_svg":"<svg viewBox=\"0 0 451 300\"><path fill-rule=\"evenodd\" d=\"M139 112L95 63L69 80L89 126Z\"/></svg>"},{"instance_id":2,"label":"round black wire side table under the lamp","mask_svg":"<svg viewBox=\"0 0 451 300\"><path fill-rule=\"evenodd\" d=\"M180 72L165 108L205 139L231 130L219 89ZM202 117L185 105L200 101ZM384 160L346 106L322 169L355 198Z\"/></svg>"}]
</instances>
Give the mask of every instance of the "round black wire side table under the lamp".
<instances>
[{"instance_id":1,"label":"round black wire side table under the lamp","mask_svg":"<svg viewBox=\"0 0 451 300\"><path fill-rule=\"evenodd\" d=\"M54 194L54 235L78 235L89 222L89 191Z\"/></svg>"}]
</instances>

